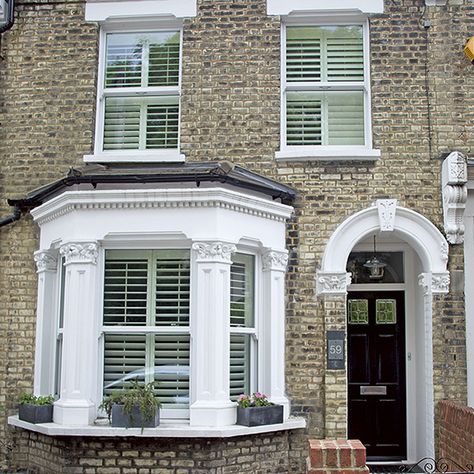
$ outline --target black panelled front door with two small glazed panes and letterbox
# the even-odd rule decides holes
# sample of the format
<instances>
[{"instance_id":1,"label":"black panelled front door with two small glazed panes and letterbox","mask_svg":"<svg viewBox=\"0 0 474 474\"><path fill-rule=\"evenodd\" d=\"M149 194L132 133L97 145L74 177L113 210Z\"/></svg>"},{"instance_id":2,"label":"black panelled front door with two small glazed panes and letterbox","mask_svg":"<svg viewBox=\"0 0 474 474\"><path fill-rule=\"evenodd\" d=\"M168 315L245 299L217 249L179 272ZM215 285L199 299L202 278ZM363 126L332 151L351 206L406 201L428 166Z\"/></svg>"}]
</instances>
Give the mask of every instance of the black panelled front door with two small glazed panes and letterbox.
<instances>
[{"instance_id":1,"label":"black panelled front door with two small glazed panes and letterbox","mask_svg":"<svg viewBox=\"0 0 474 474\"><path fill-rule=\"evenodd\" d=\"M349 438L368 459L406 459L403 291L349 293L347 352Z\"/></svg>"}]
</instances>

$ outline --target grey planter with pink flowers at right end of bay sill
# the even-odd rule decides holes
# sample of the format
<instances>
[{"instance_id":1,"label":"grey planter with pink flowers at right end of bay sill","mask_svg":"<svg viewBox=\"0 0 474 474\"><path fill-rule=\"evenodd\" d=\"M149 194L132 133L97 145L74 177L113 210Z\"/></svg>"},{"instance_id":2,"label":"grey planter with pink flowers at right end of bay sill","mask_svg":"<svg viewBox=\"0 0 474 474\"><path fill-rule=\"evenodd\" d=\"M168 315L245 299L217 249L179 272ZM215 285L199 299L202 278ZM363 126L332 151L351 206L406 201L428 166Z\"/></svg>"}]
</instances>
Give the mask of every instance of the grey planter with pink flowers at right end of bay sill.
<instances>
[{"instance_id":1,"label":"grey planter with pink flowers at right end of bay sill","mask_svg":"<svg viewBox=\"0 0 474 474\"><path fill-rule=\"evenodd\" d=\"M283 405L275 405L268 401L263 393L255 392L252 396L242 394L237 403L238 425L260 426L283 423Z\"/></svg>"}]
</instances>

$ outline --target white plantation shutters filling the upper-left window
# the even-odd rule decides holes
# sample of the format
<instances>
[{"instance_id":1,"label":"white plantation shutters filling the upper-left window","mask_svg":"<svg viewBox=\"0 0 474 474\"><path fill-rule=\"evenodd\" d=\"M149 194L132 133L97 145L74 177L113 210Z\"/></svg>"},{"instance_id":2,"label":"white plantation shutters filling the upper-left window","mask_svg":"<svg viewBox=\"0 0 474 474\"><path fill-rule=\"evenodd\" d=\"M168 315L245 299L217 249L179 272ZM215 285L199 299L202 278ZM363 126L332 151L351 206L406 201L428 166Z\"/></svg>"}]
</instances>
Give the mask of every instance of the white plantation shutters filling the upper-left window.
<instances>
[{"instance_id":1,"label":"white plantation shutters filling the upper-left window","mask_svg":"<svg viewBox=\"0 0 474 474\"><path fill-rule=\"evenodd\" d=\"M178 148L179 68L179 32L107 35L104 151Z\"/></svg>"}]
</instances>

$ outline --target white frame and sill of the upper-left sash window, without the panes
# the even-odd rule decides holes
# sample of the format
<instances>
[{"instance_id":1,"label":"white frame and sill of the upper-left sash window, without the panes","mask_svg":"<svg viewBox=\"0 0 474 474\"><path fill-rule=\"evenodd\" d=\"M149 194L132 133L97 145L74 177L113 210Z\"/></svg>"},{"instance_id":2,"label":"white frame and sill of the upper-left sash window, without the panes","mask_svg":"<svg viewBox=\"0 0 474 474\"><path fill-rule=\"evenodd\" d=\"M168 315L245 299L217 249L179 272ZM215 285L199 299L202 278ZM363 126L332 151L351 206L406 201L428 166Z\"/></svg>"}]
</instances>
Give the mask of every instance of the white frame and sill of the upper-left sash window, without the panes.
<instances>
[{"instance_id":1,"label":"white frame and sill of the upper-left sash window, without the panes","mask_svg":"<svg viewBox=\"0 0 474 474\"><path fill-rule=\"evenodd\" d=\"M134 25L132 27L132 25ZM179 74L178 85L176 86L155 86L155 87L128 87L109 88L106 90L105 66L107 55L107 35L127 34L127 33L165 33L179 32ZM84 155L86 163L108 163L108 162L183 162L185 156L180 153L181 143L181 77L183 58L183 27L181 22L163 21L156 22L153 26L149 24L133 23L130 26L123 24L105 24L100 29L99 39L99 66L97 70L97 102L96 102L96 126L94 154ZM178 143L176 148L149 149L149 150L104 150L104 119L105 100L111 97L141 97L141 98L162 98L167 96L178 97Z\"/></svg>"}]
</instances>

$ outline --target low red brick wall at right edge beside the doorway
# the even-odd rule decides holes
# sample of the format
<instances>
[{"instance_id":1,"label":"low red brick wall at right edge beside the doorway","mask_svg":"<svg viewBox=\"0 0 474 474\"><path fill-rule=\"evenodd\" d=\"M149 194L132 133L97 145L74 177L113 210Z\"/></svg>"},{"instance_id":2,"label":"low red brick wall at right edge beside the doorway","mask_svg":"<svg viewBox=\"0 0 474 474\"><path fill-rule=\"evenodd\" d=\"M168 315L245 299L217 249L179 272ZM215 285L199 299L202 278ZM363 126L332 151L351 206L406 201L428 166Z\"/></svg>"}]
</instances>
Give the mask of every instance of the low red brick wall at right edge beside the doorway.
<instances>
[{"instance_id":1,"label":"low red brick wall at right edge beside the doorway","mask_svg":"<svg viewBox=\"0 0 474 474\"><path fill-rule=\"evenodd\" d=\"M474 409L460 403L442 400L438 403L438 450L441 459L451 459L459 466L474 470Z\"/></svg>"}]
</instances>

